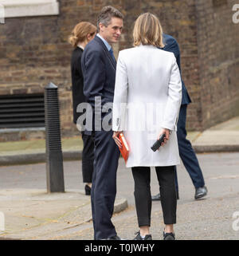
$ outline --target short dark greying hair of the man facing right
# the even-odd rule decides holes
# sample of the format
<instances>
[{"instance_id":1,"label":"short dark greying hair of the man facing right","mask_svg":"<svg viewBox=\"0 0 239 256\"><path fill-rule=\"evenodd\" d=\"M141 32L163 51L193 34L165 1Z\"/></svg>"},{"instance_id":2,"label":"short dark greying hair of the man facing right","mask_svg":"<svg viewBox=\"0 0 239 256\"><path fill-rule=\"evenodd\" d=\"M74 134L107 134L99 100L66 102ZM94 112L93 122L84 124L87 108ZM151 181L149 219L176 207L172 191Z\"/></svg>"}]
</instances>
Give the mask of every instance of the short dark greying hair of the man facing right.
<instances>
[{"instance_id":1,"label":"short dark greying hair of the man facing right","mask_svg":"<svg viewBox=\"0 0 239 256\"><path fill-rule=\"evenodd\" d=\"M97 30L100 31L99 24L102 23L104 26L108 26L110 22L112 21L112 18L122 18L123 14L120 13L119 10L117 10L113 6L104 6L102 10L100 11L100 14L97 18Z\"/></svg>"}]
</instances>

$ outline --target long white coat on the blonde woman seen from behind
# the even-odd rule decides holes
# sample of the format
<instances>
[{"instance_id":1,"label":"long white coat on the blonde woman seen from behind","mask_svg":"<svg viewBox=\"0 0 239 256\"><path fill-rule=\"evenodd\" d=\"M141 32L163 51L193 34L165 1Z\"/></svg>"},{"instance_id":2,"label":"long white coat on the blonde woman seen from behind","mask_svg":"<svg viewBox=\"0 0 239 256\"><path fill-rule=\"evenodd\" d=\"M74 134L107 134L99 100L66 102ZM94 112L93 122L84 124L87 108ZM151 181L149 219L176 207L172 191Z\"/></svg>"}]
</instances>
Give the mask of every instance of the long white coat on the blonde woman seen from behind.
<instances>
[{"instance_id":1,"label":"long white coat on the blonde woman seen from behind","mask_svg":"<svg viewBox=\"0 0 239 256\"><path fill-rule=\"evenodd\" d=\"M112 130L123 131L130 153L126 167L171 166L180 163L176 125L182 82L174 53L153 45L119 52ZM170 138L159 151L151 146L162 128Z\"/></svg>"}]
</instances>

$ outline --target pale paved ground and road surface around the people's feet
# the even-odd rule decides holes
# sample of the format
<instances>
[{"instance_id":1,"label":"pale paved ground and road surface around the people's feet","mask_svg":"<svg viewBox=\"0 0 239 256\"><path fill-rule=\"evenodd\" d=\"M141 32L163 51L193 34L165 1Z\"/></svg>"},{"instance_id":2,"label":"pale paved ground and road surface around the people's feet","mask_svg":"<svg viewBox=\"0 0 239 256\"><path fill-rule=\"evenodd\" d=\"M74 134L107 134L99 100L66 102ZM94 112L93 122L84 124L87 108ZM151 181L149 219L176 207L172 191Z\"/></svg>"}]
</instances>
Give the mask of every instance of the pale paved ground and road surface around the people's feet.
<instances>
[{"instance_id":1,"label":"pale paved ground and road surface around the people's feet","mask_svg":"<svg viewBox=\"0 0 239 256\"><path fill-rule=\"evenodd\" d=\"M212 226L212 223L218 225L216 223L224 217L225 219L222 219L221 223L225 223L225 220L229 221L233 212L239 211L237 207L239 116L217 124L204 132L188 132L187 137L196 152L204 153L198 155L199 162L208 170L205 179L211 187L214 187L214 191L217 191L216 194L211 192L210 198L201 200L200 205L195 205L192 183L190 179L184 177L183 173L186 171L180 171L184 167L178 167L178 180L181 180L180 183L184 186L182 196L179 193L180 200L178 200L178 215L183 215L182 219L184 219L181 228L186 231L191 225L190 223L197 223L194 225L195 230L190 230L191 235L195 233L192 237L179 234L179 239L200 239L209 232L208 229L203 229L204 225ZM62 139L65 192L48 193L45 188L45 141L0 143L0 163L2 165L0 167L0 239L92 239L90 197L84 195L84 184L79 173L81 149L82 142L79 137ZM224 152L233 155L224 155ZM227 163L226 167L224 166L225 162ZM204 163L206 166L203 166ZM212 163L217 163L218 166L212 168ZM228 167L230 165L233 166L230 169L231 172ZM215 175L216 169L217 175ZM132 223L134 223L132 229L136 227L132 178L130 171L125 170L123 160L120 159L119 186L117 186L119 192L116 197L113 219L116 221L117 230L122 233L123 229L131 226ZM210 172L212 170L214 173ZM221 174L218 170L221 170ZM152 179L151 188L156 193L158 184L154 183L155 180ZM216 184L215 181L225 182L220 183L220 186L225 186L222 191L218 190L218 183ZM235 184L233 185L232 182ZM228 183L227 188L226 183ZM212 188L209 189L210 191ZM210 207L215 207L217 211L212 211L206 219L198 219L197 214ZM188 215L192 208L194 214ZM227 209L230 210L229 215L226 212ZM152 217L162 218L162 211L155 203ZM208 218L211 218L211 221L202 225L202 222ZM159 224L163 228L163 223ZM214 227L212 226L212 228ZM232 233L231 228L228 228L228 223L227 227L224 226L223 229L225 234L228 230L229 235L223 237L216 232L214 238L239 239L238 232L233 231ZM201 234L197 233L198 230L202 230ZM128 238L130 238L129 235ZM157 238L160 239L156 236Z\"/></svg>"}]
</instances>

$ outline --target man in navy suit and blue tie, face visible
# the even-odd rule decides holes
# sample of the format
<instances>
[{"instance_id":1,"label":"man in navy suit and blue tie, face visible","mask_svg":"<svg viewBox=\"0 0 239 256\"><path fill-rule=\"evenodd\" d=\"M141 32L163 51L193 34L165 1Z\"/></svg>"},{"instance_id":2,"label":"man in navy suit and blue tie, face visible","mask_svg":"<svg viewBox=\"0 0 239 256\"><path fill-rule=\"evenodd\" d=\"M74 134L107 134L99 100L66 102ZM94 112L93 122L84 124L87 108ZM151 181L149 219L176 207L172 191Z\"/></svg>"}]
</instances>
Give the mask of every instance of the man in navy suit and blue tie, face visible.
<instances>
[{"instance_id":1,"label":"man in navy suit and blue tie, face visible","mask_svg":"<svg viewBox=\"0 0 239 256\"><path fill-rule=\"evenodd\" d=\"M112 104L116 80L116 59L110 44L116 43L123 28L123 14L112 6L104 7L97 20L98 33L84 49L81 67L84 76L84 96L93 109L92 133L95 143L95 161L92 178L92 219L96 240L120 240L112 214L116 199L116 171L119 148L112 139L112 128L102 129L101 120L111 116L105 104ZM87 125L86 125L87 127ZM104 128L104 122L103 122ZM86 133L91 131L86 130Z\"/></svg>"}]
</instances>

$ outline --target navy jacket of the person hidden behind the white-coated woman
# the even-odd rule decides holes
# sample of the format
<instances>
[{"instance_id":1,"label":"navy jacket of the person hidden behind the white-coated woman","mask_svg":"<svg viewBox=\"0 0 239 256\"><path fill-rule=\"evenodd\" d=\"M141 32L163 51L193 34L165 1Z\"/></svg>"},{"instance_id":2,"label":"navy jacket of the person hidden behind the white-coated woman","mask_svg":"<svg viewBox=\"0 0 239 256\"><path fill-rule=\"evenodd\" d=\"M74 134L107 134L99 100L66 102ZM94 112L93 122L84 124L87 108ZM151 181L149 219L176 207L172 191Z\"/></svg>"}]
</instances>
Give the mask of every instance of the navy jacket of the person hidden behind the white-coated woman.
<instances>
[{"instance_id":1,"label":"navy jacket of the person hidden behind the white-coated woman","mask_svg":"<svg viewBox=\"0 0 239 256\"><path fill-rule=\"evenodd\" d=\"M164 50L166 50L167 52L174 53L174 56L178 64L178 69L180 70L180 73L181 73L180 50L179 50L178 42L174 37L171 37L170 35L163 33L163 43L165 45L163 47ZM184 82L182 81L182 103L181 104L190 104L190 102L191 102L190 96L187 93Z\"/></svg>"}]
</instances>

